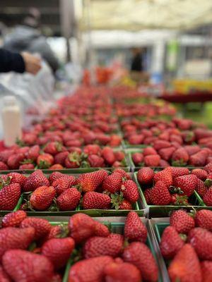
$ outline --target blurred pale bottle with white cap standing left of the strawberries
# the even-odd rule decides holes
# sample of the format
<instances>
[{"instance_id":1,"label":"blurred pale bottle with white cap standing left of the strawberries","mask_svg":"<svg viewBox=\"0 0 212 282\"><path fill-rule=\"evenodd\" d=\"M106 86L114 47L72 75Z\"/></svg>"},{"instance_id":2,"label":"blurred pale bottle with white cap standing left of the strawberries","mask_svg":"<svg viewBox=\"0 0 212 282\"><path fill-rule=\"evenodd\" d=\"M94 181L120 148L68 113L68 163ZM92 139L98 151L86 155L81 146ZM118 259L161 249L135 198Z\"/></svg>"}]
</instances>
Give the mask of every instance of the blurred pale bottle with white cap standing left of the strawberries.
<instances>
[{"instance_id":1,"label":"blurred pale bottle with white cap standing left of the strawberries","mask_svg":"<svg viewBox=\"0 0 212 282\"><path fill-rule=\"evenodd\" d=\"M4 145L11 147L16 140L21 138L20 107L14 96L6 96L3 99L2 123L4 130Z\"/></svg>"}]
</instances>

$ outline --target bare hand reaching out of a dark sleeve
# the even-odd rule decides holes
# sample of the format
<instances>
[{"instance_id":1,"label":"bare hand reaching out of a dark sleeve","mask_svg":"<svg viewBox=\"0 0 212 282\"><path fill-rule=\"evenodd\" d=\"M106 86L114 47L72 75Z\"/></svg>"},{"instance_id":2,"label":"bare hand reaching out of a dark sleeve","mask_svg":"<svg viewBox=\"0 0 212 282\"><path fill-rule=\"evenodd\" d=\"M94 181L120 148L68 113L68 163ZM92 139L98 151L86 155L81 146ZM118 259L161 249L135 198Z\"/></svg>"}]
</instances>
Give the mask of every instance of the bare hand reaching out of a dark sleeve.
<instances>
[{"instance_id":1,"label":"bare hand reaching out of a dark sleeve","mask_svg":"<svg viewBox=\"0 0 212 282\"><path fill-rule=\"evenodd\" d=\"M40 71L41 60L28 52L21 53L21 56L23 57L23 61L25 63L25 71L36 75L36 73Z\"/></svg>"}]
</instances>

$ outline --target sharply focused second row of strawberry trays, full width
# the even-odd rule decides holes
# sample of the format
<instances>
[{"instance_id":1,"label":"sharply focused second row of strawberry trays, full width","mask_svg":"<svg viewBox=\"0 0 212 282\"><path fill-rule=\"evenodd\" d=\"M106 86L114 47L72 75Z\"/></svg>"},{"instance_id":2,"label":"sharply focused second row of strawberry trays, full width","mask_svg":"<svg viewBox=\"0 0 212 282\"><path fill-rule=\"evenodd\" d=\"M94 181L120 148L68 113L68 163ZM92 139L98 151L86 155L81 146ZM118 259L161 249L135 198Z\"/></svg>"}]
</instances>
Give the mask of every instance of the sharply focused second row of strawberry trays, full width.
<instances>
[{"instance_id":1,"label":"sharply focused second row of strawberry trays, full width","mask_svg":"<svg viewBox=\"0 0 212 282\"><path fill-rule=\"evenodd\" d=\"M89 173L4 171L0 215L21 209L30 216L71 216L78 212L126 216L134 210L139 216L151 218L169 216L181 208L212 209L212 180L206 170L168 167L140 168L134 173L120 168ZM101 173L106 178L95 185ZM88 184L95 187L89 190Z\"/></svg>"}]
</instances>

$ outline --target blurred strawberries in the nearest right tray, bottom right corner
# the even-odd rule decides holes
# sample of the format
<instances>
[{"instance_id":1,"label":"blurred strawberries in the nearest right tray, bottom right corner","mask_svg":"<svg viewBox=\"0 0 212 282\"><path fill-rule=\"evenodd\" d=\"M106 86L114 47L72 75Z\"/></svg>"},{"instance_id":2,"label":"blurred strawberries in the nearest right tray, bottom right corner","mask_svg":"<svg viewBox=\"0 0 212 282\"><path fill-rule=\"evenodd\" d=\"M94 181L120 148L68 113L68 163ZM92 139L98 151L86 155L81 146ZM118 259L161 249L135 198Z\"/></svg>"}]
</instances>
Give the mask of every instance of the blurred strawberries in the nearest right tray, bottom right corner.
<instances>
[{"instance_id":1,"label":"blurred strawberries in the nearest right tray, bottom right corner","mask_svg":"<svg viewBox=\"0 0 212 282\"><path fill-rule=\"evenodd\" d=\"M172 212L160 241L170 281L212 281L212 212Z\"/></svg>"}]
</instances>

